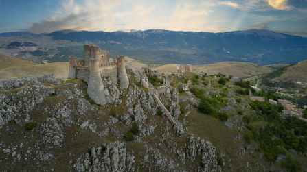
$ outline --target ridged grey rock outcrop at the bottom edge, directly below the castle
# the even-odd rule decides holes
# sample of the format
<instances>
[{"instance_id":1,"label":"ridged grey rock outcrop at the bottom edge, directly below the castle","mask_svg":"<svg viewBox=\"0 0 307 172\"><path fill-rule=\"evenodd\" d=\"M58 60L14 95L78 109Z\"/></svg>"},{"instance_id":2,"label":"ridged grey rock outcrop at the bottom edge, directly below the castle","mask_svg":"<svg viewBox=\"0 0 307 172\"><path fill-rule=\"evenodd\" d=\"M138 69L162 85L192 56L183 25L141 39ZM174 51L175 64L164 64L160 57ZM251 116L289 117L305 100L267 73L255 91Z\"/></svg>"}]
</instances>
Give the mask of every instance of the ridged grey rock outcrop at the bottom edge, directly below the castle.
<instances>
[{"instance_id":1,"label":"ridged grey rock outcrop at the bottom edge, directly below the castle","mask_svg":"<svg viewBox=\"0 0 307 172\"><path fill-rule=\"evenodd\" d=\"M73 164L76 171L135 171L135 156L127 152L126 143L104 143L92 147Z\"/></svg>"}]
</instances>

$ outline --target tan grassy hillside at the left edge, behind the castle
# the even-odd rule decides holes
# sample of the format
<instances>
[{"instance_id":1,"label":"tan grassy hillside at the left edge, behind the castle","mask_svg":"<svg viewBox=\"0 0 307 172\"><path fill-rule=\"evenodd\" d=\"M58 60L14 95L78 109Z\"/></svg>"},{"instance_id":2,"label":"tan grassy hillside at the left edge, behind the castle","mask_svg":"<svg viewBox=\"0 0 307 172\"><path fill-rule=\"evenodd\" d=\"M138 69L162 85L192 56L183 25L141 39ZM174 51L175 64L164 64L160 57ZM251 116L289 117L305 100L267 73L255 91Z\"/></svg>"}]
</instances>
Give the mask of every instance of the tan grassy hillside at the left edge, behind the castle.
<instances>
[{"instance_id":1,"label":"tan grassy hillside at the left edge, behind the castle","mask_svg":"<svg viewBox=\"0 0 307 172\"><path fill-rule=\"evenodd\" d=\"M35 64L27 60L0 55L0 79L46 74L54 74L56 77L67 77L68 63Z\"/></svg>"}]
</instances>

